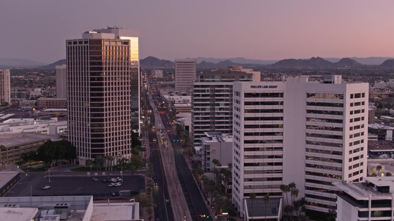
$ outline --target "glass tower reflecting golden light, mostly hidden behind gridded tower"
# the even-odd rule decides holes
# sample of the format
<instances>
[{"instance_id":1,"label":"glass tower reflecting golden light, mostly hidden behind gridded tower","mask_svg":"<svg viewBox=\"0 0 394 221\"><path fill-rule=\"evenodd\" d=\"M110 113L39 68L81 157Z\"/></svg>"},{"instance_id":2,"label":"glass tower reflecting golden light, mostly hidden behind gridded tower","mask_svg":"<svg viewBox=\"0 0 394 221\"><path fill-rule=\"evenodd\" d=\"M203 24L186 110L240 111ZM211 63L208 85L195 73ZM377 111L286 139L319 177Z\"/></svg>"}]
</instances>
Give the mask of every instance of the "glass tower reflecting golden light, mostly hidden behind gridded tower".
<instances>
[{"instance_id":1,"label":"glass tower reflecting golden light, mostly hidden behind gridded tower","mask_svg":"<svg viewBox=\"0 0 394 221\"><path fill-rule=\"evenodd\" d=\"M130 97L131 97L131 123L132 129L139 131L140 118L140 74L139 74L139 31L135 29L123 29L117 27L108 27L107 29L94 29L100 33L113 33L116 39L130 40L129 58L130 58Z\"/></svg>"}]
</instances>

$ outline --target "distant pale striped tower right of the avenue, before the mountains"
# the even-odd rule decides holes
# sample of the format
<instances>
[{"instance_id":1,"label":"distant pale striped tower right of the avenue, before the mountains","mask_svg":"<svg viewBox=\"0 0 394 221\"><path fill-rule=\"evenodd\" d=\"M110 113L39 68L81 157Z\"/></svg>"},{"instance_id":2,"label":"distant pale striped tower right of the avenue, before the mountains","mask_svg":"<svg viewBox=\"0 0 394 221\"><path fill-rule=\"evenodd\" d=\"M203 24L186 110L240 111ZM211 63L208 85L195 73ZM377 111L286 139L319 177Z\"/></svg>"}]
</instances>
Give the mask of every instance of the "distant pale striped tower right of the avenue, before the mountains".
<instances>
[{"instance_id":1,"label":"distant pale striped tower right of the avenue, before the mountains","mask_svg":"<svg viewBox=\"0 0 394 221\"><path fill-rule=\"evenodd\" d=\"M196 59L175 59L175 90L191 90L196 76Z\"/></svg>"}]
</instances>

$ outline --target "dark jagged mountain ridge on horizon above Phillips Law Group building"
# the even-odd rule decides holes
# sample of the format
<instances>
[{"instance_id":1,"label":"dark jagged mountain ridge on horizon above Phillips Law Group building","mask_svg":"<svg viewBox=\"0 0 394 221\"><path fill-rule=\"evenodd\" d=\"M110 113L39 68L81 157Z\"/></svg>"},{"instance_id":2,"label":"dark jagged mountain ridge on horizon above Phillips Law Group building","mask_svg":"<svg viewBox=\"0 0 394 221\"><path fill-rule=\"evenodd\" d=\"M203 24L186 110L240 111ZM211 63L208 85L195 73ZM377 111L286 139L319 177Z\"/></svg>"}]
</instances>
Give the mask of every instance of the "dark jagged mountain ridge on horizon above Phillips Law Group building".
<instances>
[{"instance_id":1,"label":"dark jagged mountain ridge on horizon above Phillips Law Group building","mask_svg":"<svg viewBox=\"0 0 394 221\"><path fill-rule=\"evenodd\" d=\"M342 58L338 62L330 62L321 57L312 57L310 59L283 59L273 64L277 67L312 67L312 68L329 68L329 67L350 67L357 68L361 67L362 64L358 63L354 59Z\"/></svg>"}]
</instances>

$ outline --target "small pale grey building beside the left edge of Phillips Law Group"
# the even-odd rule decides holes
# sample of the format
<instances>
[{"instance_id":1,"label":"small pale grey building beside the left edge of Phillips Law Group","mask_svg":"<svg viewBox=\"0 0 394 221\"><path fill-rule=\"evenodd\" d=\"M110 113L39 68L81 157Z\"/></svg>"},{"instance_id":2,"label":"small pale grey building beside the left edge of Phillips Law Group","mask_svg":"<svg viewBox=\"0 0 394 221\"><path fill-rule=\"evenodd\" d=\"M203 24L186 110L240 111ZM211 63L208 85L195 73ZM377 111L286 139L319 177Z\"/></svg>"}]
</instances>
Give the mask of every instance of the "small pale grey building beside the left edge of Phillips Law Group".
<instances>
[{"instance_id":1,"label":"small pale grey building beside the left edge of Phillips Law Group","mask_svg":"<svg viewBox=\"0 0 394 221\"><path fill-rule=\"evenodd\" d=\"M221 132L205 132L201 138L201 166L205 172L213 172L213 159L220 161L222 166L232 163L232 136Z\"/></svg>"}]
</instances>

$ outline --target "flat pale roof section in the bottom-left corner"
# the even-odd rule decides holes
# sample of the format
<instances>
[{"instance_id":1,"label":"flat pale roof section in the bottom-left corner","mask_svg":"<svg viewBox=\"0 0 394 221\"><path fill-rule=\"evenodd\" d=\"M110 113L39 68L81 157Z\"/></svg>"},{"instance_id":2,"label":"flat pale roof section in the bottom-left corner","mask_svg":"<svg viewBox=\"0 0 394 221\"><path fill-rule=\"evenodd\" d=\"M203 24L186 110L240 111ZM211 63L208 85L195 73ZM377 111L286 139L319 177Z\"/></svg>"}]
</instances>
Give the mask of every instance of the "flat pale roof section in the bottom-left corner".
<instances>
[{"instance_id":1,"label":"flat pale roof section in the bottom-left corner","mask_svg":"<svg viewBox=\"0 0 394 221\"><path fill-rule=\"evenodd\" d=\"M37 212L37 208L0 207L0 221L30 221Z\"/></svg>"}]
</instances>

